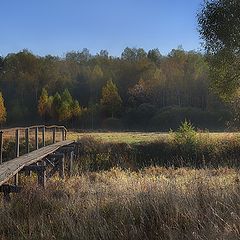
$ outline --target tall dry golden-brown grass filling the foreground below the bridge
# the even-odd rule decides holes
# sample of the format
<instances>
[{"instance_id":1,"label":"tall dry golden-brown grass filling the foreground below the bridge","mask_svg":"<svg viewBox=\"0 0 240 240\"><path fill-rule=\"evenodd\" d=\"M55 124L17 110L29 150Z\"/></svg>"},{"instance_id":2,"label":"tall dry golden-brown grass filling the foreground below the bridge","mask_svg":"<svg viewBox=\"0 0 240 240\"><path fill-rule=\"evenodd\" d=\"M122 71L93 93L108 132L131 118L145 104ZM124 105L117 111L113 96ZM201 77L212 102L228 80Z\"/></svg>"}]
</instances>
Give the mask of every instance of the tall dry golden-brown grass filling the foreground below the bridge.
<instances>
[{"instance_id":1,"label":"tall dry golden-brown grass filling the foreground below the bridge","mask_svg":"<svg viewBox=\"0 0 240 240\"><path fill-rule=\"evenodd\" d=\"M0 208L0 238L239 239L239 179L228 168L159 167L53 179L46 190L22 179Z\"/></svg>"}]
</instances>

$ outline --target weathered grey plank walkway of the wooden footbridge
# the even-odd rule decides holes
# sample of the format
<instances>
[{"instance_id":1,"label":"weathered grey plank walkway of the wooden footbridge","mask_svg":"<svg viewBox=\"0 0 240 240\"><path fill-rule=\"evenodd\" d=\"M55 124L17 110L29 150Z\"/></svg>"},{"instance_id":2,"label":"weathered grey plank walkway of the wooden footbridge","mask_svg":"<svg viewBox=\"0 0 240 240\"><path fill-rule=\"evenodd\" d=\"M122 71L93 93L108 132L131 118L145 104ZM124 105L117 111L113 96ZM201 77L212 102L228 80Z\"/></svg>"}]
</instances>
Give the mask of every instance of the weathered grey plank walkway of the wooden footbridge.
<instances>
[{"instance_id":1,"label":"weathered grey plank walkway of the wooden footbridge","mask_svg":"<svg viewBox=\"0 0 240 240\"><path fill-rule=\"evenodd\" d=\"M66 140L40 148L13 160L4 162L0 165L0 186L17 174L25 166L33 164L47 155L57 151L59 148L72 144L74 141Z\"/></svg>"}]
</instances>

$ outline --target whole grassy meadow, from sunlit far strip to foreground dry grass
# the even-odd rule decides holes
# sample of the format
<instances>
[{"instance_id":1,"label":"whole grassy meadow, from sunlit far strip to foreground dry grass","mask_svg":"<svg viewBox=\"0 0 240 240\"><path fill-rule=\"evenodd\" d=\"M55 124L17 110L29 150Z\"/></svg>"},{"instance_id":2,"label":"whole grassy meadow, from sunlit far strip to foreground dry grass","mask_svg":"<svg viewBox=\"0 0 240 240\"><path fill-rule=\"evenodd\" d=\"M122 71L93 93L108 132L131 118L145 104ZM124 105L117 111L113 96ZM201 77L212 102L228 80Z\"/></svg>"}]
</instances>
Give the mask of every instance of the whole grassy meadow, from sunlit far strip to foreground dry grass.
<instances>
[{"instance_id":1,"label":"whole grassy meadow, from sunlit far strip to foreground dry grass","mask_svg":"<svg viewBox=\"0 0 240 240\"><path fill-rule=\"evenodd\" d=\"M239 239L238 133L69 132L74 176L36 176L0 212L1 239Z\"/></svg>"}]
</instances>

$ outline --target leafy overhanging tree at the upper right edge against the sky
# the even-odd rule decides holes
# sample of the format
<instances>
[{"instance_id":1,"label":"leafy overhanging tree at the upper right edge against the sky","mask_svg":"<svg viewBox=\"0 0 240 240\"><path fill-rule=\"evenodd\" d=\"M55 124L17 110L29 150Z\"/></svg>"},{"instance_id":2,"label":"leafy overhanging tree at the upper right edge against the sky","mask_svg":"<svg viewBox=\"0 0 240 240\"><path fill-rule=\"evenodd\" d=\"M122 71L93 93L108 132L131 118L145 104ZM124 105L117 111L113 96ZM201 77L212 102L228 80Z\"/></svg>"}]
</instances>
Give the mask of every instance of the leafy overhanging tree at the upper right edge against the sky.
<instances>
[{"instance_id":1,"label":"leafy overhanging tree at the upper right edge against the sky","mask_svg":"<svg viewBox=\"0 0 240 240\"><path fill-rule=\"evenodd\" d=\"M198 13L213 90L224 100L240 87L240 1L207 0Z\"/></svg>"}]
</instances>

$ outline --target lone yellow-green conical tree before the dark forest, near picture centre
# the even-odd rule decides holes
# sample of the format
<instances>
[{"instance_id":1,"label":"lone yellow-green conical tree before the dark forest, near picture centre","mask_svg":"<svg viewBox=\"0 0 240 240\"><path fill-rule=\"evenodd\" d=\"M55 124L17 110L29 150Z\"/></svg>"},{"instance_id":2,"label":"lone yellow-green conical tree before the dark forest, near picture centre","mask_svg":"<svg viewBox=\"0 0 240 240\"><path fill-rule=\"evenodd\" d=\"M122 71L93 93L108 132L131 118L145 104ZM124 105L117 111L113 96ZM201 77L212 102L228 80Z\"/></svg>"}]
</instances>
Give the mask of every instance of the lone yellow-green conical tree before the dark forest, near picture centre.
<instances>
[{"instance_id":1,"label":"lone yellow-green conical tree before the dark forest, near picture centre","mask_svg":"<svg viewBox=\"0 0 240 240\"><path fill-rule=\"evenodd\" d=\"M109 80L102 89L101 105L112 117L114 117L114 114L121 108L122 99L118 94L116 84L114 84L112 80Z\"/></svg>"}]
</instances>

